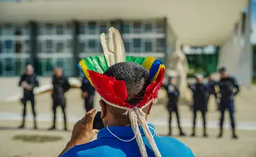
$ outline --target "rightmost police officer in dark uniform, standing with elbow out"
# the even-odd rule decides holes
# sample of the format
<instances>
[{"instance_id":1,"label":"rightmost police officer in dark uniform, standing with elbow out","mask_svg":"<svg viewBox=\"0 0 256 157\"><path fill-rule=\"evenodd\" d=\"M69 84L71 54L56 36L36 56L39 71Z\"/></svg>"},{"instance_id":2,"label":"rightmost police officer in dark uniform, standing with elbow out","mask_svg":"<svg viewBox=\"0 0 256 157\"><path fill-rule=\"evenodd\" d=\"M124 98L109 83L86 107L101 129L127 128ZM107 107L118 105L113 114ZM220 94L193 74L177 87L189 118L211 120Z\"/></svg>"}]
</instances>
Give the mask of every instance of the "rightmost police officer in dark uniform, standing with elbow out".
<instances>
[{"instance_id":1,"label":"rightmost police officer in dark uniform, standing with elbow out","mask_svg":"<svg viewBox=\"0 0 256 157\"><path fill-rule=\"evenodd\" d=\"M221 119L220 119L220 132L218 137L221 138L223 136L223 121L224 121L224 113L226 109L230 115L230 121L232 126L232 138L238 139L236 135L235 128L235 120L234 120L234 97L239 92L239 86L236 82L236 79L233 77L229 77L226 73L226 68L222 67L219 69L219 73L221 75L221 80L218 83L219 90L220 90L220 112L221 112Z\"/></svg>"}]
</instances>

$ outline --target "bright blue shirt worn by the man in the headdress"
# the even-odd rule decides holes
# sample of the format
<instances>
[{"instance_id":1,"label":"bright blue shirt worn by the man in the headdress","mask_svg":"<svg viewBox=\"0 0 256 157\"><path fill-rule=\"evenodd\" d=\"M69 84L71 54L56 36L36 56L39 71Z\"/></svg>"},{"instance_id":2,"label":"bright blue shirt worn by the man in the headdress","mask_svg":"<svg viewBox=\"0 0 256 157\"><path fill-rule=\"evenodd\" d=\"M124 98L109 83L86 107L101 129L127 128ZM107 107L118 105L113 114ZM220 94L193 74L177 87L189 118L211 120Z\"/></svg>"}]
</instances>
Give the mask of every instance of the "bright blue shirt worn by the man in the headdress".
<instances>
[{"instance_id":1,"label":"bright blue shirt worn by the man in the headdress","mask_svg":"<svg viewBox=\"0 0 256 157\"><path fill-rule=\"evenodd\" d=\"M165 157L190 157L194 156L190 148L186 147L181 141L173 137L160 137L156 135L154 130L154 126L148 124L150 126L150 131L152 135L154 135L154 140L158 149L160 150L161 156ZM114 133L117 137L123 140L130 140L135 137L131 126L111 126L109 130ZM141 156L140 150L137 145L136 139L130 142L124 142L112 135L107 128L103 128L98 132L98 138L95 141L91 141L90 143L86 143L84 145L77 145L73 148L70 148L62 157L122 157L122 156ZM152 148L150 147L148 141L146 141L146 137L140 127L140 133L142 135L142 139L146 145L146 151L148 156L155 156Z\"/></svg>"}]
</instances>

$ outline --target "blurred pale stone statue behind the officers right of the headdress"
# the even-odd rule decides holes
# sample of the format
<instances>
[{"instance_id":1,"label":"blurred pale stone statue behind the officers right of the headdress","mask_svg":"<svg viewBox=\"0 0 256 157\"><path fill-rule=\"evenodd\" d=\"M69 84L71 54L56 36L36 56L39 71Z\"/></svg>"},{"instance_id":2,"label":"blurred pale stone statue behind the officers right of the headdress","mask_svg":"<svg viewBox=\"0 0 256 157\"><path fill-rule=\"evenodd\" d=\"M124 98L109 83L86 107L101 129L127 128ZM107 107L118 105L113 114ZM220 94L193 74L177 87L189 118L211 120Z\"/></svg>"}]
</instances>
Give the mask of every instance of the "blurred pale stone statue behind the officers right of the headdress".
<instances>
[{"instance_id":1,"label":"blurred pale stone statue behind the officers right of the headdress","mask_svg":"<svg viewBox=\"0 0 256 157\"><path fill-rule=\"evenodd\" d=\"M177 78L177 85L181 93L180 99L186 102L192 100L187 81L188 71L188 60L186 60L186 55L181 50L181 43L176 41L175 51L168 58L167 75Z\"/></svg>"}]
</instances>

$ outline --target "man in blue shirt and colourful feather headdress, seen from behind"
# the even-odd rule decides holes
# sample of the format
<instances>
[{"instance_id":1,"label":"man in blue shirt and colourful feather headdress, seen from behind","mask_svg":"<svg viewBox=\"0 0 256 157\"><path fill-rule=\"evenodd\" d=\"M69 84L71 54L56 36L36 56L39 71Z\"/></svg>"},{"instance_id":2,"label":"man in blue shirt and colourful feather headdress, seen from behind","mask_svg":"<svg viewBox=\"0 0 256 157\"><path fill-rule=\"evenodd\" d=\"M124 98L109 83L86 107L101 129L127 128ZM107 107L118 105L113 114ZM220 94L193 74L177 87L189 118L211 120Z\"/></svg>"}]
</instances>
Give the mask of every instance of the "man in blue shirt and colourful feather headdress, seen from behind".
<instances>
[{"instance_id":1,"label":"man in blue shirt and colourful feather headdress, seen from behind","mask_svg":"<svg viewBox=\"0 0 256 157\"><path fill-rule=\"evenodd\" d=\"M85 58L78 67L101 97L105 128L93 130L97 111L89 111L75 124L60 156L194 156L186 145L158 136L146 123L163 81L163 63L152 57L125 56L121 35L113 27L108 39L103 33L100 41L104 56ZM97 132L98 138L90 142Z\"/></svg>"}]
</instances>

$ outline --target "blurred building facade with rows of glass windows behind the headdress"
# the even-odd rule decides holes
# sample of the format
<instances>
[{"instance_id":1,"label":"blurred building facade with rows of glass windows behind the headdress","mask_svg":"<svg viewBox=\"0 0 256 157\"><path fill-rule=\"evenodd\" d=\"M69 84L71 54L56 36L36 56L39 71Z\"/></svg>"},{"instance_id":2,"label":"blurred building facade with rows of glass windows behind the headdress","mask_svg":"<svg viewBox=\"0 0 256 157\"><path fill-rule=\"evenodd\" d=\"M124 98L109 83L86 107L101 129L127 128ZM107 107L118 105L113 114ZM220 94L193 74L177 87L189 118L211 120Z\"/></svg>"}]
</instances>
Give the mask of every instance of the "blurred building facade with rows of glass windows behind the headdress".
<instances>
[{"instance_id":1,"label":"blurred building facade with rows of glass windows behind the headdress","mask_svg":"<svg viewBox=\"0 0 256 157\"><path fill-rule=\"evenodd\" d=\"M127 55L154 56L165 62L166 25L165 18L1 24L0 76L21 75L26 64L32 63L43 77L51 76L54 66L77 77L76 64L81 58L102 54L100 33L107 33L111 26L119 29Z\"/></svg>"}]
</instances>

